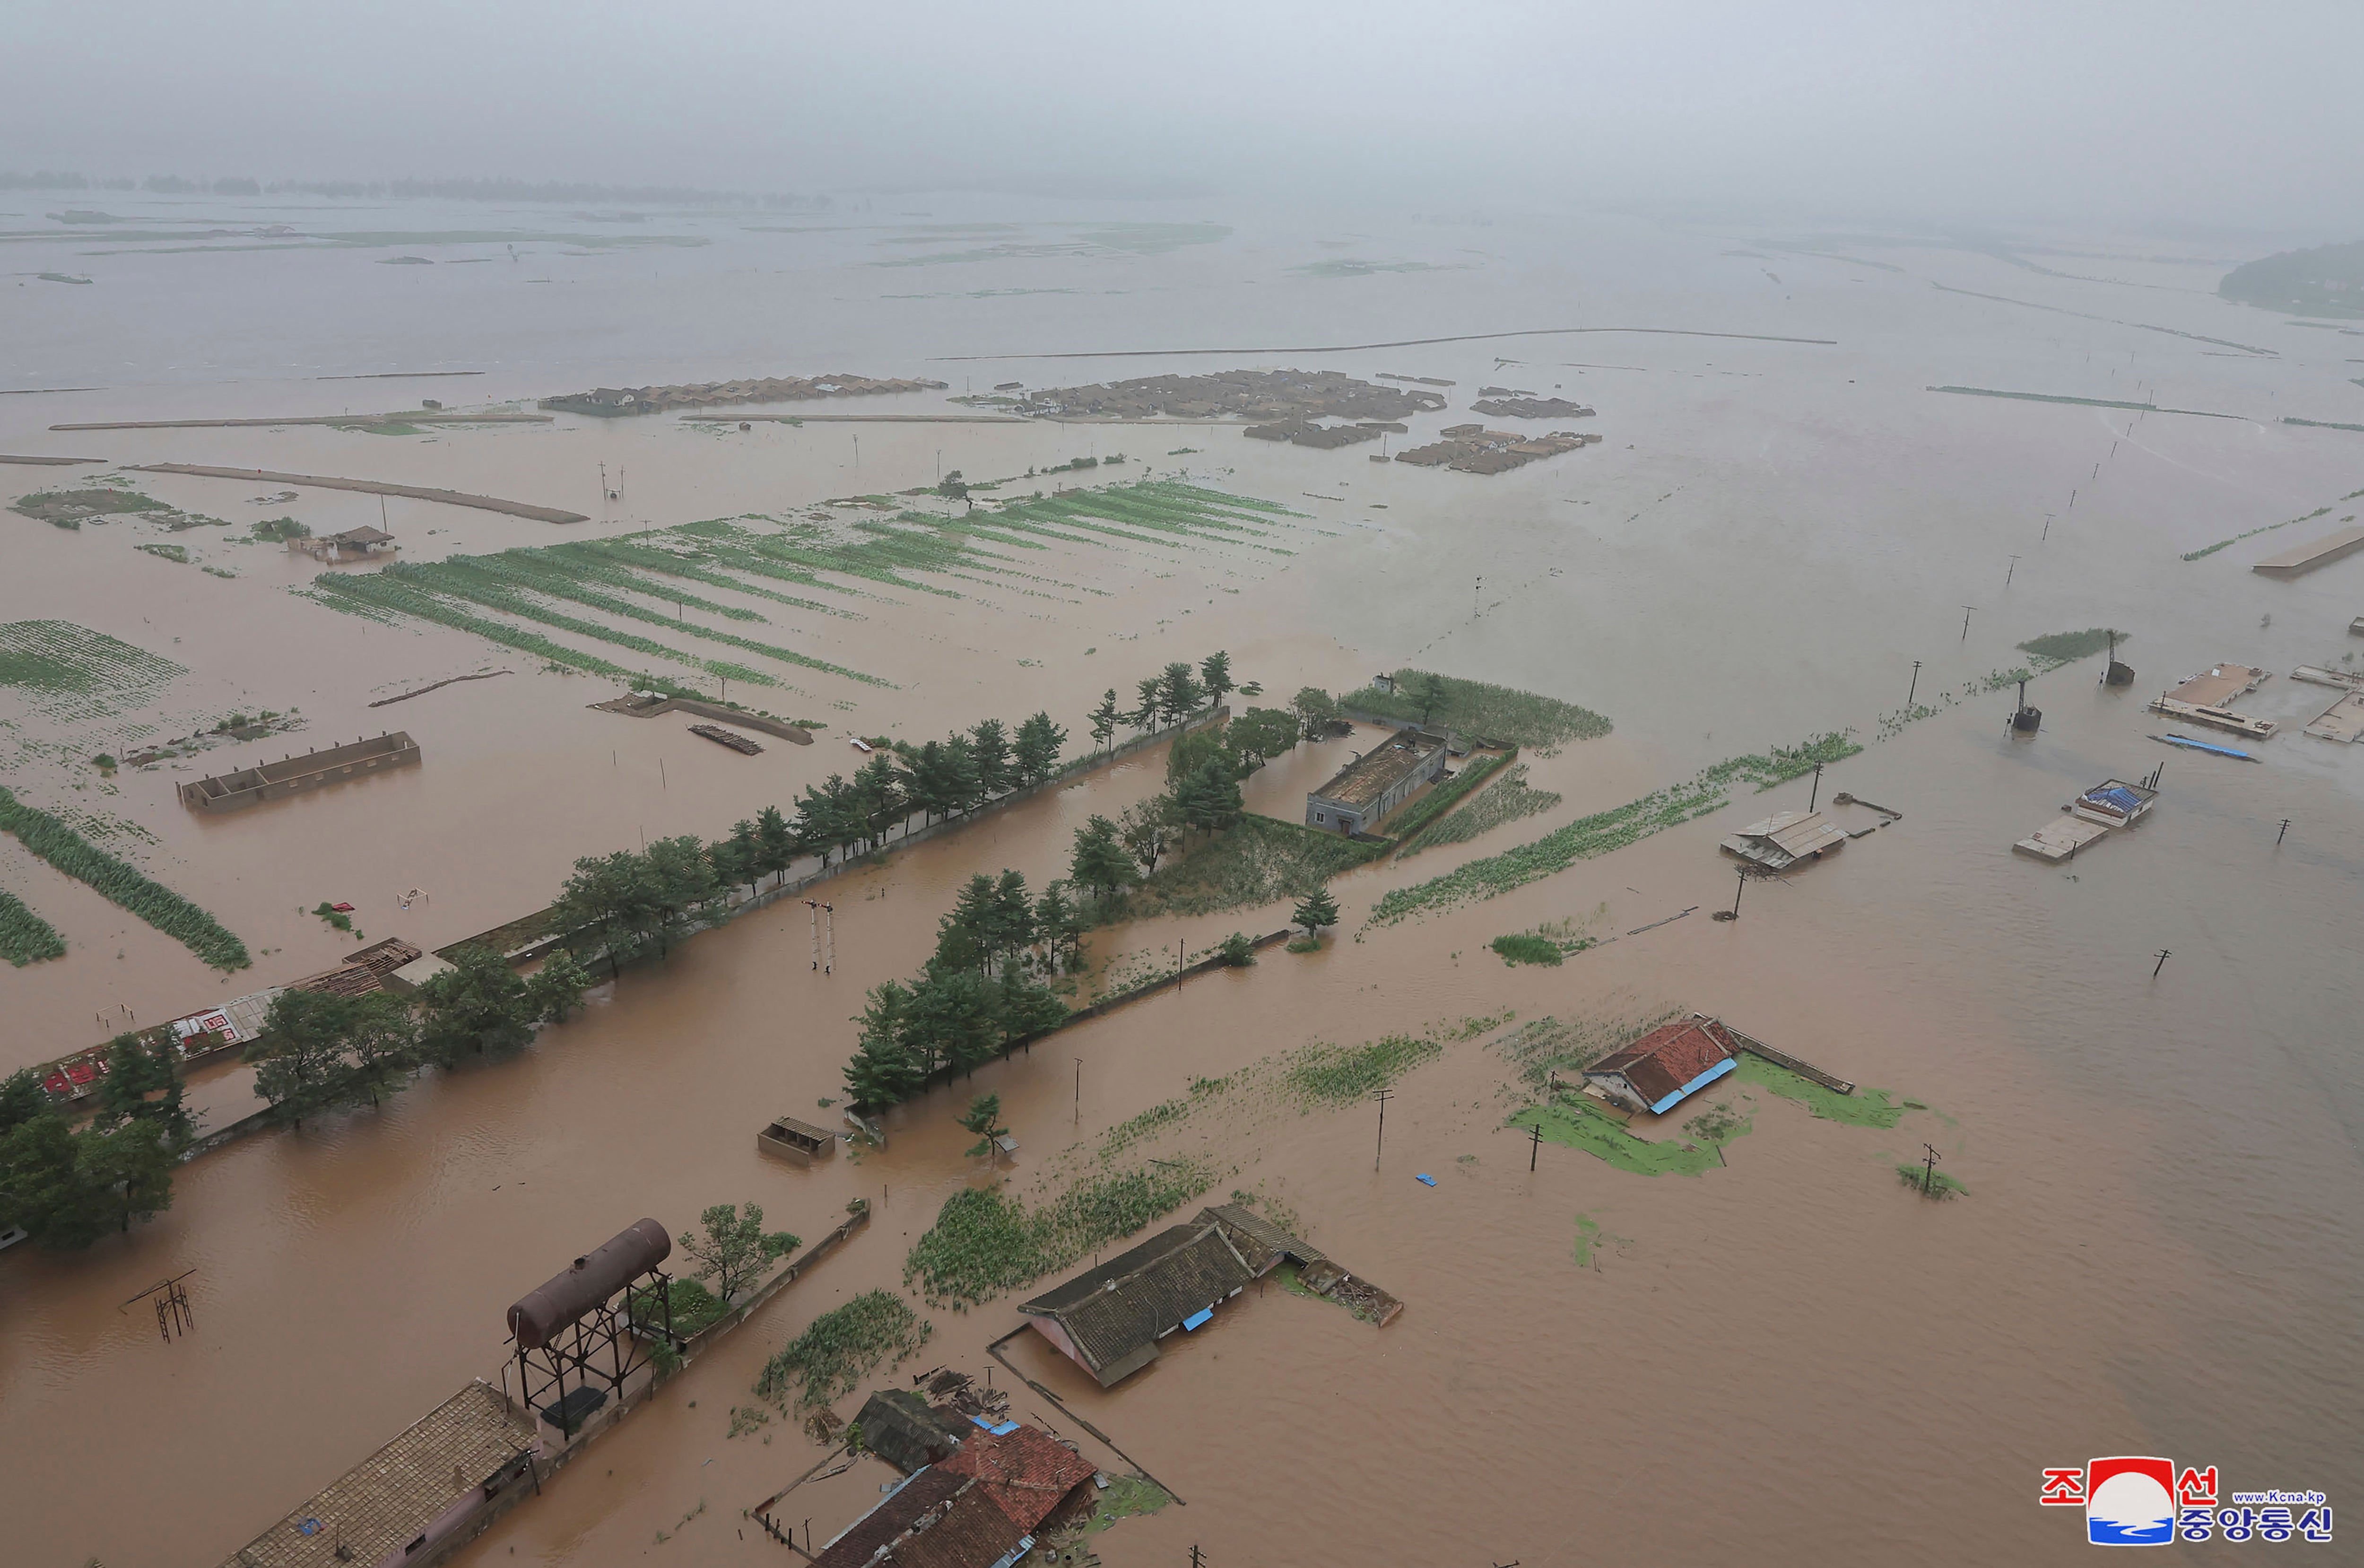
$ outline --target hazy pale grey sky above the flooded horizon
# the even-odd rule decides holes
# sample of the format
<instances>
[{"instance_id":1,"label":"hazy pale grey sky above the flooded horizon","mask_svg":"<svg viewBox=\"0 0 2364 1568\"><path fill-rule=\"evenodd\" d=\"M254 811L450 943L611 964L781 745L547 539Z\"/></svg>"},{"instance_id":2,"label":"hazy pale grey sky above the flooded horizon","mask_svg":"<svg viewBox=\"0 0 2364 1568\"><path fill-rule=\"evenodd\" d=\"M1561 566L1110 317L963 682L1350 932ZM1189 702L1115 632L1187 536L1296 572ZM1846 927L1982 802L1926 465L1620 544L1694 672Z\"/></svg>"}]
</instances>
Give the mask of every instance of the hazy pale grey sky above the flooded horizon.
<instances>
[{"instance_id":1,"label":"hazy pale grey sky above the flooded horizon","mask_svg":"<svg viewBox=\"0 0 2364 1568\"><path fill-rule=\"evenodd\" d=\"M2364 2L14 0L0 168L2364 232Z\"/></svg>"}]
</instances>

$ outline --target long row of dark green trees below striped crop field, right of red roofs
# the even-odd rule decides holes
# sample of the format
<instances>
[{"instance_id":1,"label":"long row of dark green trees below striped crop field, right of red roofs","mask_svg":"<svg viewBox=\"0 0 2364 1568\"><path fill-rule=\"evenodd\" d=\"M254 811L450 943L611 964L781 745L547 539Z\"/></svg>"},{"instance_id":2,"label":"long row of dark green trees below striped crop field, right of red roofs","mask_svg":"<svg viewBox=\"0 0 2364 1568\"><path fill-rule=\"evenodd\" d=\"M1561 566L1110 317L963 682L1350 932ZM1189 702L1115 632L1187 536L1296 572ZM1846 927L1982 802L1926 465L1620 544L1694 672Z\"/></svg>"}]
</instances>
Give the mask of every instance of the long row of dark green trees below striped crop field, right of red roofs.
<instances>
[{"instance_id":1,"label":"long row of dark green trees below striped crop field, right of red roofs","mask_svg":"<svg viewBox=\"0 0 2364 1568\"><path fill-rule=\"evenodd\" d=\"M1092 740L1104 750L1121 726L1151 731L1177 724L1236 688L1227 653L1210 653L1191 669L1177 660L1139 683L1139 705L1121 707L1116 688L1092 710ZM785 877L799 858L865 854L889 842L910 818L922 825L965 816L979 806L1038 785L1059 771L1066 731L1038 712L1012 733L1000 719L969 731L913 745L875 740L870 759L853 778L830 773L806 785L790 816L764 806L730 828L728 837L697 835L657 840L641 851L574 861L574 875L558 894L556 918L579 946L608 951L610 972L648 951L664 955L674 941L728 913L730 892L749 896L764 877Z\"/></svg>"}]
</instances>

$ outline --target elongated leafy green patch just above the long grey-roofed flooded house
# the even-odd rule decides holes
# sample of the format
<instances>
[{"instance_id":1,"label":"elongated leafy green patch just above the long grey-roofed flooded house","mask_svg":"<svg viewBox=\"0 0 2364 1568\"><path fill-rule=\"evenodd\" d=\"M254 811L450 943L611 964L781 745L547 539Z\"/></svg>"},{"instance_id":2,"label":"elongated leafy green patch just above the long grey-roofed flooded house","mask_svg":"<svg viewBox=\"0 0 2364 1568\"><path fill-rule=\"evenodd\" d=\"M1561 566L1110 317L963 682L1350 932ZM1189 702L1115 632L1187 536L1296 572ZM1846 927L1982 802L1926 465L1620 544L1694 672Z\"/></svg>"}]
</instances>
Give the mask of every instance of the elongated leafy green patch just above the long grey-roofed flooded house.
<instances>
[{"instance_id":1,"label":"elongated leafy green patch just above the long grey-roofed flooded house","mask_svg":"<svg viewBox=\"0 0 2364 1568\"><path fill-rule=\"evenodd\" d=\"M1087 1175L1035 1209L991 1187L955 1192L905 1256L903 1284L917 1284L929 1305L967 1310L1130 1237L1213 1185L1206 1166L1180 1161Z\"/></svg>"}]
</instances>

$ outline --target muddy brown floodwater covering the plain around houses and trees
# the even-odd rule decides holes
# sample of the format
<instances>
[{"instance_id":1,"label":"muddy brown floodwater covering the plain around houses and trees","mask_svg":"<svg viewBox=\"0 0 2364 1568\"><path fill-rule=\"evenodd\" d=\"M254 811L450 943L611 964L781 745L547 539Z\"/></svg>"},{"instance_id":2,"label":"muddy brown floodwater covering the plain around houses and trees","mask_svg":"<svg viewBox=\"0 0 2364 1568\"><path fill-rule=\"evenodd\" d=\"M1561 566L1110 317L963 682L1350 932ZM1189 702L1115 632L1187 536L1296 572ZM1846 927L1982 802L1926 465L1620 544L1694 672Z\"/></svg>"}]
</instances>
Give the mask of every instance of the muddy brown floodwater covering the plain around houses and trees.
<instances>
[{"instance_id":1,"label":"muddy brown floodwater covering the plain around houses and trees","mask_svg":"<svg viewBox=\"0 0 2364 1568\"><path fill-rule=\"evenodd\" d=\"M1494 289L1499 310L1560 319L1572 284L1556 267L1567 263L1534 237L1499 244L1527 246L1537 267L1530 281ZM80 814L92 832L111 830L104 842L220 915L258 963L213 974L0 842L0 882L73 944L61 960L0 974L9 1017L0 1067L104 1038L109 1007L154 1022L324 967L352 939L303 913L322 899L355 901L371 939L447 944L544 903L579 854L641 835L714 835L764 804L790 804L858 764L849 731L929 738L1045 707L1080 736L1104 688L1128 698L1165 660L1217 646L1269 688L1267 700L1416 665L1544 691L1617 721L1610 738L1527 757L1534 785L1565 797L1556 811L1340 877L1345 922L1324 951L1267 951L1253 967L1191 979L939 1088L889 1116L884 1152L794 1171L752 1145L775 1114L837 1114L818 1102L842 1093L849 1015L863 989L920 965L962 880L1005 866L1033 885L1059 875L1087 814L1113 814L1161 785L1161 752L832 882L832 974L808 965L801 908L745 915L629 970L513 1062L435 1074L378 1112L199 1159L165 1216L85 1256L7 1251L9 1561L222 1561L456 1384L494 1374L504 1308L586 1244L643 1213L681 1232L704 1206L745 1199L813 1237L849 1199L868 1197L868 1232L456 1559L782 1561L740 1509L801 1473L818 1447L785 1421L764 1428L768 1443L728 1438L730 1410L752 1402L764 1358L818 1313L872 1287L901 1291L905 1251L950 1192L1005 1180L1033 1197L1069 1145L1087 1156L1111 1126L1194 1078L1310 1041L1357 1045L1504 1012L1612 1019L1664 1007L1728 1017L1924 1109L1896 1128L1858 1128L1733 1086L1712 1097L1747 1114L1749 1130L1697 1178L1636 1175L1551 1142L1530 1173L1525 1138L1504 1130L1522 1104L1515 1071L1489 1031L1395 1086L1383 1152L1369 1104L1300 1114L1243 1097L1170 1126L1139 1152L1210 1161L1210 1201L1239 1187L1286 1204L1314 1244L1407 1310L1371 1329L1321 1301L1251 1291L1106 1393L1031 1341L1012 1346L1031 1376L1187 1499L1097 1535L1099 1556L1111 1568L1187 1561L1189 1547L1222 1566L2066 1563L2085 1547L2073 1518L2035 1504L2040 1471L2118 1452L2217 1464L2227 1485L2319 1488L2347 1502L2340 1488L2364 1452L2352 1331L2364 1289L2355 1201L2364 998L2352 963L2364 762L2295 726L2262 747L2265 766L2187 757L2149 740L2163 724L2139 710L2217 660L2338 662L2355 613L2347 568L2300 584L2258 579L2243 551L2265 553L2274 534L2180 561L2357 487L2355 438L2267 416L2279 407L2269 393L2319 400L2331 385L2329 369L2307 359L2314 345L2284 345L2277 362L2222 359L2095 322L2073 329L2090 341L2071 343L2057 336L2068 317L1927 289L1936 277L1998 286L2000 263L1962 253L1896 251L1912 272L1860 286L1846 267L1813 263L1832 277L1797 284L1792 300L1747 293L1761 279L1719 260L1726 239L1619 229L1615 244L1567 244L1598 260L1598 289L1624 319L1832 343L1650 338L1648 374L1603 367L1565 385L1548 381L1560 367L1496 371L1492 355L1511 352L1501 343L1437 345L1421 364L1404 350L1321 359L1463 388L1515 378L1600 407L1586 426L1608 438L1600 447L1485 482L1175 428L879 426L863 428L858 459L846 428L702 433L572 416L435 440L322 428L109 433L116 464L364 475L593 518L560 534L392 501L392 532L414 561L804 508L929 485L939 464L972 480L1019 475L1116 447L1137 464L1128 473L1189 471L1303 513L1269 539L1288 556L1243 544L1061 544L1028 553L1024 579L939 579L960 598L849 582L870 596L832 603L865 620L745 598L768 627L704 624L894 683L782 667L782 686L749 700L832 728L813 747L778 745L754 759L678 721L591 712L612 683L537 669L459 631L376 624L298 598L284 589L317 568L277 546L175 534L203 563L236 572L225 582L132 551L147 537L137 523L64 532L5 518L0 620L78 622L189 667L151 705L121 714L61 721L12 707L5 780L45 809ZM1274 305L1281 291L1239 265L1158 258L1139 277L1206 281L1208 298L1227 300L1213 341L1307 341L1291 315L1336 310L1326 300L1338 296L1307 293L1326 284L1288 284L1288 303ZM936 352L1024 348L1028 333L1059 348L1080 331L1059 315L1069 305L993 300L1007 315L986 319L955 315L953 303L886 303L877 274L834 251L799 267L778 286L860 298L811 359L782 350L778 364L749 369L844 362L922 376ZM475 272L492 267L461 274ZM908 289L908 274L894 277ZM1395 291L1371 298L1447 324L1461 319L1442 312L1459 298L1451 291L1470 286L1364 281ZM522 291L522 279L499 286ZM515 364L532 371L487 376L487 397L695 381L738 371L745 355L721 362L738 331L730 307L773 286L773 274L733 274L714 319L686 329L690 348L714 355L707 362L681 345L626 341L619 359L546 364L530 341L501 336L496 307L478 296L418 331L454 355L478 341L515 343ZM303 317L307 331L324 331L333 317L324 300L343 298L338 289L288 289L319 312ZM650 279L600 289L615 293L596 298L626 319L617 298L660 298ZM2085 286L2012 274L2002 291L2095 310L2076 289ZM2191 331L2243 336L2206 296L2123 293L2118 315L2184 312L2175 322ZM227 322L241 319L236 298ZM544 329L584 310L556 303L556 291L520 293L508 307ZM1158 319L1139 300L1099 310L1113 317L1092 331L1116 343L1144 341L1142 324ZM1329 319L1343 341L1414 336L1347 331L1352 312ZM2274 331L2255 315L2241 324ZM113 329L80 331L111 343ZM38 338L40 364L73 341L57 333ZM2163 378L2161 402L2234 407L2255 421L2137 423L1920 395L1972 378L1957 369L1967 359L1993 385L2109 397L2116 371L2092 355L2123 369L2132 352L2142 374ZM1161 369L1142 359L1109 376ZM0 409L0 447L40 452L43 428L61 421L338 412L336 393L284 376L222 381L7 400L28 407ZM924 395L877 402L943 407ZM1423 416L1407 440L1461 419L1459 407ZM1208 452L1170 452L1184 445ZM2113 447L2123 449L2104 456ZM603 461L629 471L626 499L600 501ZM38 478L0 478L9 497L33 487ZM378 520L376 497L307 492L258 508L255 487L229 480L144 475L142 487L241 530L281 511L314 532ZM1964 605L1976 610L1960 636ZM2092 660L2052 672L2031 688L2042 731L2009 738L2012 693L1979 691L1979 679L2019 662L2012 646L2026 636L2090 624L2135 634L2123 655L2142 672L2137 686L2097 688ZM1877 740L1912 660L1924 662L1920 700L1941 712ZM499 665L518 676L366 707ZM1943 693L1953 700L1936 700ZM2291 719L2321 702L2307 707L2277 681L2246 705ZM376 733L395 712L426 762L229 818L180 811L173 788L258 747L187 759L187 773L130 771L113 785L85 766L87 750L139 726L177 736L232 707L300 707L307 728L281 750ZM1801 806L1806 780L1742 795L1499 899L1366 925L1392 887L1714 759L1846 726L1865 750L1827 769L1823 797L1851 790L1898 806L1903 821L1834 861L1749 885L1735 922L1709 920L1733 894L1714 844L1752 816ZM1355 745L1300 747L1272 764L1251 780L1251 806L1295 816L1303 790ZM2165 797L2137 832L2059 868L2009 854L2059 802L2161 757ZM2277 844L2281 818L2293 828ZM397 894L414 887L428 899L402 908ZM1641 929L1686 908L1697 913ZM1284 913L1125 925L1095 934L1092 955L1123 963L1177 941L1199 951L1232 929L1274 929ZM1506 967L1487 951L1499 934L1570 918L1615 941L1563 967ZM2161 948L2173 955L2154 977ZM1002 1095L1021 1145L1000 1178L962 1156L967 1135L953 1123L967 1095L986 1090ZM199 1102L213 1126L255 1104L243 1069L208 1076ZM1931 1204L1901 1187L1894 1166L1922 1145L1938 1149L1967 1197ZM142 1310L118 1310L191 1268L187 1339L158 1343ZM929 1317L924 1365L976 1374L991 1367L983 1346L1017 1322L1009 1298ZM851 1412L853 1400L842 1405ZM1116 1464L1031 1391L1017 1393L1014 1412ZM877 1499L882 1478L868 1462L799 1490L782 1516L799 1528L811 1516L827 1540Z\"/></svg>"}]
</instances>

